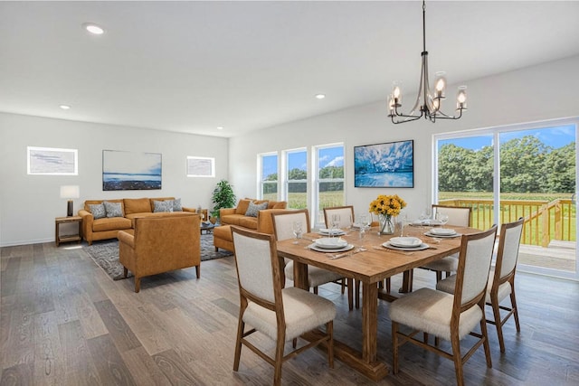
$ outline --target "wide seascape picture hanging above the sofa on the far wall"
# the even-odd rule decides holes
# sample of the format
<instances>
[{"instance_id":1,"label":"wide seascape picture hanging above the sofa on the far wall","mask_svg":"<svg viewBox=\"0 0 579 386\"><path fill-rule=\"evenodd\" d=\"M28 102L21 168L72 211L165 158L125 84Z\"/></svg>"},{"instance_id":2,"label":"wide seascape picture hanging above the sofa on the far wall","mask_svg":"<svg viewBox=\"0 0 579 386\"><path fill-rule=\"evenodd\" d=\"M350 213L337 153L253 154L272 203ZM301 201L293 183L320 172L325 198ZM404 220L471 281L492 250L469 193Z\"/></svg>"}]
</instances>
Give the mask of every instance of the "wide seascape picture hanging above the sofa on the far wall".
<instances>
[{"instance_id":1,"label":"wide seascape picture hanging above the sofa on the far wall","mask_svg":"<svg viewBox=\"0 0 579 386\"><path fill-rule=\"evenodd\" d=\"M161 189L161 155L117 150L102 151L102 190Z\"/></svg>"}]
</instances>

